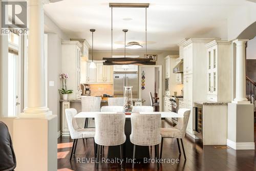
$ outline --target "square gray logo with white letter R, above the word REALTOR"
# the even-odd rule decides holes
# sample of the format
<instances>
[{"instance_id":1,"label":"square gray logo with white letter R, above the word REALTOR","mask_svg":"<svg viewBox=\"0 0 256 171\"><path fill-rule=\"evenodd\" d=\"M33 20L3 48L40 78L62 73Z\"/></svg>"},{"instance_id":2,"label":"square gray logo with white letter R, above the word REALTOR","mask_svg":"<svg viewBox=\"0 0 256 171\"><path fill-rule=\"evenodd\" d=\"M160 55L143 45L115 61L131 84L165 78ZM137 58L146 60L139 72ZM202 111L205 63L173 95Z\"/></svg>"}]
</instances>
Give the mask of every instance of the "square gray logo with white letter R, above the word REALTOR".
<instances>
[{"instance_id":1,"label":"square gray logo with white letter R, above the word REALTOR","mask_svg":"<svg viewBox=\"0 0 256 171\"><path fill-rule=\"evenodd\" d=\"M27 28L27 2L2 1L2 28Z\"/></svg>"}]
</instances>

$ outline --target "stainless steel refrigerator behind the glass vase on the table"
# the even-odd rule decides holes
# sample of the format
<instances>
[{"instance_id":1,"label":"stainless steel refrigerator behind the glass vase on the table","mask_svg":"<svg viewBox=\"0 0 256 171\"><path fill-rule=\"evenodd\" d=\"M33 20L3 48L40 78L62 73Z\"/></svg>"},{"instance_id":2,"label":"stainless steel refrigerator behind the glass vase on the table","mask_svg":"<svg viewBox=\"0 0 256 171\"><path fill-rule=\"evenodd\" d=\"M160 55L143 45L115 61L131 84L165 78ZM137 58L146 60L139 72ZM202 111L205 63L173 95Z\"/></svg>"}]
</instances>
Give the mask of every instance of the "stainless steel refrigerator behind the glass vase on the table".
<instances>
[{"instance_id":1,"label":"stainless steel refrigerator behind the glass vase on the table","mask_svg":"<svg viewBox=\"0 0 256 171\"><path fill-rule=\"evenodd\" d=\"M138 98L138 72L114 72L114 96L123 97L125 86L132 86L133 98Z\"/></svg>"}]
</instances>

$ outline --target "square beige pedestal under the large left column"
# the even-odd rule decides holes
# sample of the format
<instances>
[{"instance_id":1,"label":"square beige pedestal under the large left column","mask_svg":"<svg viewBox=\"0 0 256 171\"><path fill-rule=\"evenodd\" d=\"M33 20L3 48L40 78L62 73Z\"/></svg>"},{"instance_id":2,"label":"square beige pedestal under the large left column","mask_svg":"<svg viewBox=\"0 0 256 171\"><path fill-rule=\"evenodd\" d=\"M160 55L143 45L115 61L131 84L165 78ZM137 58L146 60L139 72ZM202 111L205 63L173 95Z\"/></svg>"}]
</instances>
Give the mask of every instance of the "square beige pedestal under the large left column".
<instances>
[{"instance_id":1,"label":"square beige pedestal under the large left column","mask_svg":"<svg viewBox=\"0 0 256 171\"><path fill-rule=\"evenodd\" d=\"M57 115L14 119L13 147L15 170L57 170Z\"/></svg>"}]
</instances>

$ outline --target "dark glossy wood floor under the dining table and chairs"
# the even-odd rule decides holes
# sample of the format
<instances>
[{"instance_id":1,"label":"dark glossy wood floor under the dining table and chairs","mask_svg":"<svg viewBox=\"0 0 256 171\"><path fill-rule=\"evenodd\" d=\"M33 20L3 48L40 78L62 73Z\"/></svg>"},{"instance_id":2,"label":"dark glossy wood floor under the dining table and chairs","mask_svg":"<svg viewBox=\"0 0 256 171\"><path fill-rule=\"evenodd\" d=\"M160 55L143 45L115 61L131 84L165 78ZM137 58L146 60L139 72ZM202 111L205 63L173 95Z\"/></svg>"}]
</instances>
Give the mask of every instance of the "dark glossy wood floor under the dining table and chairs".
<instances>
[{"instance_id":1,"label":"dark glossy wood floor under the dining table and chairs","mask_svg":"<svg viewBox=\"0 0 256 171\"><path fill-rule=\"evenodd\" d=\"M169 126L168 123L163 123ZM256 124L254 124L254 140L256 140ZM160 164L159 170L256 170L256 157L254 150L238 150L232 148L218 149L215 146L201 145L200 141L194 141L189 137L184 139L184 146L187 160L184 160L183 155L179 156L176 139L164 139L163 156L164 159L180 159L179 163ZM69 161L72 140L68 137L60 137L58 139L58 170L121 170L118 164L99 164L99 169L95 168L94 163L79 163L75 158L93 158L94 148L93 139L79 140L77 144L76 156ZM103 155L106 156L108 148L104 148ZM154 148L152 149L151 157L154 158ZM81 160L81 159L80 159ZM124 170L157 170L157 165L150 164L135 164L135 169L132 169L131 164L126 164Z\"/></svg>"}]
</instances>

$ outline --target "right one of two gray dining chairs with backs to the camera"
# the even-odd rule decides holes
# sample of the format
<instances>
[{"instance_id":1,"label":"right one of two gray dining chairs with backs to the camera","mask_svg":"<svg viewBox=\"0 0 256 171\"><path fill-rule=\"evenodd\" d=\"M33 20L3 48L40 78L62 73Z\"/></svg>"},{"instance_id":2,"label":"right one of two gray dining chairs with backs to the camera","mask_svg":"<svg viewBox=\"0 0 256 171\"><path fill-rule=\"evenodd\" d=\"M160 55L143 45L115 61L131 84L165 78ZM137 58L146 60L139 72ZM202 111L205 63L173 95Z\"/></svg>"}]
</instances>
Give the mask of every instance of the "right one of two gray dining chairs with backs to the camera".
<instances>
[{"instance_id":1,"label":"right one of two gray dining chairs with backs to the camera","mask_svg":"<svg viewBox=\"0 0 256 171\"><path fill-rule=\"evenodd\" d=\"M130 140L134 144L133 161L135 159L136 145L155 145L155 155L159 159L159 144L161 143L160 122L161 114L131 114L132 133ZM159 162L157 162L157 168L159 168Z\"/></svg>"}]
</instances>

